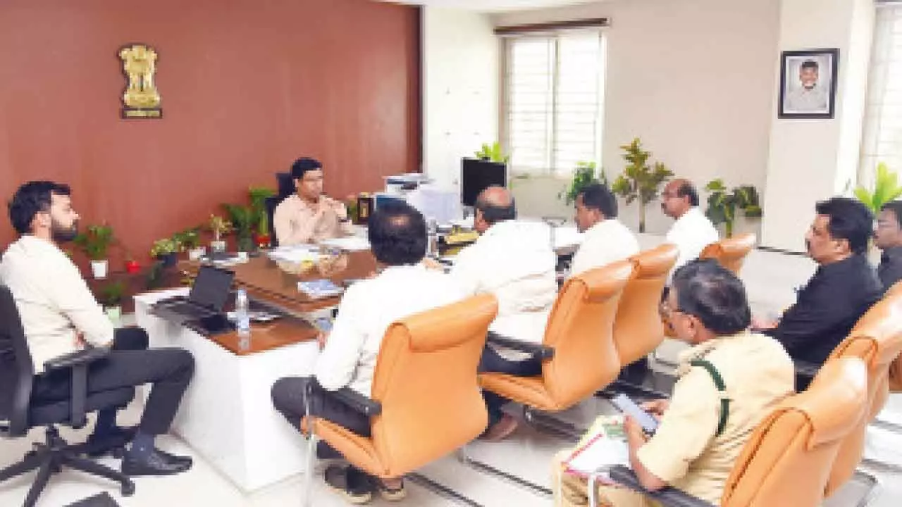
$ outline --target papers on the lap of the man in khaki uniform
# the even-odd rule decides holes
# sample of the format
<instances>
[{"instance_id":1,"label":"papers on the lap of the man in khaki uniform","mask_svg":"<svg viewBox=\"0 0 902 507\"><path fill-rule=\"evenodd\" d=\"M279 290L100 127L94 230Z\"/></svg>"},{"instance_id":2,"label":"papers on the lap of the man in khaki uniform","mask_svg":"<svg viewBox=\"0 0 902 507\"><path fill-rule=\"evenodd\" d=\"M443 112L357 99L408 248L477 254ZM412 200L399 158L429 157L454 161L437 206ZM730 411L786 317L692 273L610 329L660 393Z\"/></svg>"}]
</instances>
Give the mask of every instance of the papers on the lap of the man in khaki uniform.
<instances>
[{"instance_id":1,"label":"papers on the lap of the man in khaki uniform","mask_svg":"<svg viewBox=\"0 0 902 507\"><path fill-rule=\"evenodd\" d=\"M602 416L595 420L575 451L564 460L569 474L588 477L612 466L630 466L630 447L623 433L621 416ZM610 481L607 474L603 477Z\"/></svg>"}]
</instances>

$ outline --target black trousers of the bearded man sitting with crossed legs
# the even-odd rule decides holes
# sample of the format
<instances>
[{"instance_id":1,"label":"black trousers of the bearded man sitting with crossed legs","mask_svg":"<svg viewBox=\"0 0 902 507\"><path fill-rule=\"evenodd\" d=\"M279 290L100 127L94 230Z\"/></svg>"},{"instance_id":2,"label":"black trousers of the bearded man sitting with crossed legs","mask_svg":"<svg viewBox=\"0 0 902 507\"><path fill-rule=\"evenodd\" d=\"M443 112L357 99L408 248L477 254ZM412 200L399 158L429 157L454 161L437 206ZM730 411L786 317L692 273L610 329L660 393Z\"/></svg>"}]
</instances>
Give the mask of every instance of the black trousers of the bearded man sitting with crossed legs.
<instances>
[{"instance_id":1,"label":"black trousers of the bearded man sitting with crossed legs","mask_svg":"<svg viewBox=\"0 0 902 507\"><path fill-rule=\"evenodd\" d=\"M194 357L187 350L148 350L147 332L128 327L117 329L110 354L88 367L87 394L150 383L138 429L147 435L161 435L169 431L193 375ZM68 371L36 375L32 400L68 400L71 380Z\"/></svg>"}]
</instances>

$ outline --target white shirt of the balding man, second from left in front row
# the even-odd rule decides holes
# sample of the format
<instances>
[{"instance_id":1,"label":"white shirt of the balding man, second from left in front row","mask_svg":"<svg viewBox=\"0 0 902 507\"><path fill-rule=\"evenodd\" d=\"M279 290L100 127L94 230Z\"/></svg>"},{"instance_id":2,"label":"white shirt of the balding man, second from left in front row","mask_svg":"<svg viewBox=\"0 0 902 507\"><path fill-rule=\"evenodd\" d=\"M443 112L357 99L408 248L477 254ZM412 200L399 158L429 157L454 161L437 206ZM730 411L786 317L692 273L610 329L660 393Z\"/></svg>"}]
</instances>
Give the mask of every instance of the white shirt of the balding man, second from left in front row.
<instances>
[{"instance_id":1,"label":"white shirt of the balding man, second from left in front row","mask_svg":"<svg viewBox=\"0 0 902 507\"><path fill-rule=\"evenodd\" d=\"M492 293L498 317L490 330L499 335L542 343L548 314L557 299L557 256L548 226L507 220L491 227L458 255L451 275L468 294ZM529 355L498 349L510 360Z\"/></svg>"}]
</instances>

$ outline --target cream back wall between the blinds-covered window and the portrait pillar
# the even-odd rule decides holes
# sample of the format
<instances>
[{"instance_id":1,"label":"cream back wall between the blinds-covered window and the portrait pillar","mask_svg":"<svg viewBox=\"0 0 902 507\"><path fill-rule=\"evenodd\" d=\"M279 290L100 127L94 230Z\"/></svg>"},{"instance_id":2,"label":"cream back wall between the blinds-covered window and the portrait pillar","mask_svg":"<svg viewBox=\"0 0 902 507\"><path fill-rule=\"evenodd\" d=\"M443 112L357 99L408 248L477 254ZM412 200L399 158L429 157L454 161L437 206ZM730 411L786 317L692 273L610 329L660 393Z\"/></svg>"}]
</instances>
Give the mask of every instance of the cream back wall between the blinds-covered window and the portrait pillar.
<instances>
[{"instance_id":1,"label":"cream back wall between the blinds-covered window and the portrait pillar","mask_svg":"<svg viewBox=\"0 0 902 507\"><path fill-rule=\"evenodd\" d=\"M718 177L763 189L779 0L610 0L497 14L493 21L596 17L612 23L603 128L609 178L623 169L621 144L639 136L654 160L700 189ZM636 205L621 206L621 217L637 226ZM649 205L649 232L670 223L658 203Z\"/></svg>"}]
</instances>

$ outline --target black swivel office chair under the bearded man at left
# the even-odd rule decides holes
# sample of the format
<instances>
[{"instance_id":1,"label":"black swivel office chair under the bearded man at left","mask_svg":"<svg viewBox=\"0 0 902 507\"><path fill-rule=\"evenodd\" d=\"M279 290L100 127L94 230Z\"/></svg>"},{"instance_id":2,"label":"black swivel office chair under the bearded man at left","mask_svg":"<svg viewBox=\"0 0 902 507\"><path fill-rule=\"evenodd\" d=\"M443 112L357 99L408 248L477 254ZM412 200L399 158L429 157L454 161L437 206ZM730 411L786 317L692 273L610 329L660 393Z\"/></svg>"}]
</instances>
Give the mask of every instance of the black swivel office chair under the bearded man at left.
<instances>
[{"instance_id":1,"label":"black swivel office chair under the bearded man at left","mask_svg":"<svg viewBox=\"0 0 902 507\"><path fill-rule=\"evenodd\" d=\"M44 364L46 372L69 370L72 374L72 396L67 401L35 403L32 401L34 367L28 351L22 321L13 294L0 286L0 437L22 438L29 429L46 427L46 440L35 444L22 461L0 470L0 482L37 469L32 488L23 507L32 507L47 486L52 474L69 466L90 475L106 477L120 484L122 494L131 496L134 483L112 468L79 456L78 447L60 438L55 425L81 428L87 412L110 407L121 408L132 401L133 388L116 389L87 396L87 366L108 354L106 348L81 350Z\"/></svg>"}]
</instances>

